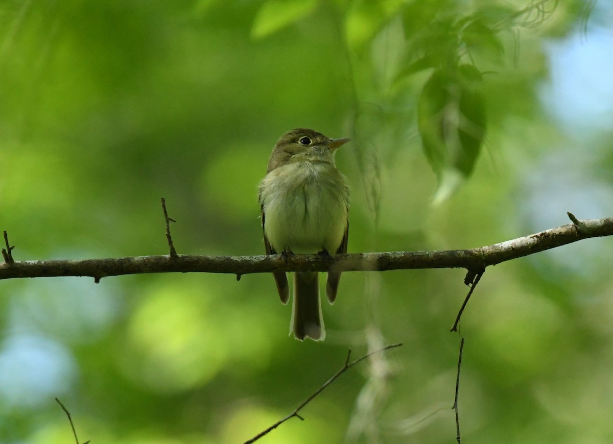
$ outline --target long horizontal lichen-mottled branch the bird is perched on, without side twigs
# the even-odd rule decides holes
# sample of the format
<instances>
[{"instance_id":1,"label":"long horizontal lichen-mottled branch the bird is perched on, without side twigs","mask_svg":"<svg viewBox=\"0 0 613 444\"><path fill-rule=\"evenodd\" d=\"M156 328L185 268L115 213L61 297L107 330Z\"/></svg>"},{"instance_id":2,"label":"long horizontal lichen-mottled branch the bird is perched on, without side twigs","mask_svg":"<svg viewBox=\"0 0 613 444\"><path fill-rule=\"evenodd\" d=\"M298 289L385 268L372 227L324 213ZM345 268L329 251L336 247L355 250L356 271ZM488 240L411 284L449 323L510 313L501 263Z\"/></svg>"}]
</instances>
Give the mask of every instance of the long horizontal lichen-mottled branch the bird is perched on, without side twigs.
<instances>
[{"instance_id":1,"label":"long horizontal lichen-mottled branch the bird is perched on, without side twigs","mask_svg":"<svg viewBox=\"0 0 613 444\"><path fill-rule=\"evenodd\" d=\"M571 217L571 216L569 216ZM574 216L572 216L574 218ZM576 219L576 218L575 218ZM106 276L142 273L270 273L271 271L386 271L418 268L466 268L481 271L582 239L613 235L613 218L577 220L523 238L468 249L283 257L170 255L85 260L26 260L0 264L0 279L15 277Z\"/></svg>"}]
</instances>

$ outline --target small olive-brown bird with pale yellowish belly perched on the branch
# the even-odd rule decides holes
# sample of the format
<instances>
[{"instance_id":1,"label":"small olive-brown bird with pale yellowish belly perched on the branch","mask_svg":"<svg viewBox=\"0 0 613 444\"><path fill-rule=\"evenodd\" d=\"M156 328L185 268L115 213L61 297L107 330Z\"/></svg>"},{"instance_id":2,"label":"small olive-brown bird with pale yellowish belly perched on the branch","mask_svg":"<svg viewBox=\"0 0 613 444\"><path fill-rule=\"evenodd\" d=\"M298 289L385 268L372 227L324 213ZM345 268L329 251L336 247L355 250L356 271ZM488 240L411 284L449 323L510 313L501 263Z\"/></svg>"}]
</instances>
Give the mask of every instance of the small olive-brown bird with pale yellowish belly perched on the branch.
<instances>
[{"instance_id":1,"label":"small olive-brown bird with pale yellowish belly perched on the branch","mask_svg":"<svg viewBox=\"0 0 613 444\"><path fill-rule=\"evenodd\" d=\"M259 184L266 254L347 252L349 186L334 164L336 149L349 139L331 139L312 129L298 128L277 141ZM289 299L284 271L273 272L281 302ZM337 297L340 272L329 272L326 295ZM318 272L294 273L290 333L303 341L326 337L319 303Z\"/></svg>"}]
</instances>

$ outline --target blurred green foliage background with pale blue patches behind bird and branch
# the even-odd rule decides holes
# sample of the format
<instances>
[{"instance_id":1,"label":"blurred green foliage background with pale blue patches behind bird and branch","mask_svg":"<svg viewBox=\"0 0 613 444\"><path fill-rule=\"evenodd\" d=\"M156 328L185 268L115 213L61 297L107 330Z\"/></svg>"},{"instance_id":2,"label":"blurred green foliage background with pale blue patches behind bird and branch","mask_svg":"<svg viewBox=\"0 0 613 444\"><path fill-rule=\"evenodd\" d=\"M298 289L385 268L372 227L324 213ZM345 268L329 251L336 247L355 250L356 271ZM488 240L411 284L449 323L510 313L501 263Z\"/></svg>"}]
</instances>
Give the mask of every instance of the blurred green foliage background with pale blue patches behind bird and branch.
<instances>
[{"instance_id":1,"label":"blurred green foliage background with pale blue patches behind bird and branch","mask_svg":"<svg viewBox=\"0 0 613 444\"><path fill-rule=\"evenodd\" d=\"M180 254L262 254L257 182L294 127L353 138L349 252L611 217L612 23L604 0L2 1L0 228L17 260L166 254L165 197ZM482 73L487 133L432 205L417 103L457 64ZM488 269L460 324L463 441L613 442L612 251ZM455 442L463 277L346 273L322 343L287 336L265 274L2 281L0 443L74 442L54 397L81 442L244 442L349 347L393 342L261 442Z\"/></svg>"}]
</instances>

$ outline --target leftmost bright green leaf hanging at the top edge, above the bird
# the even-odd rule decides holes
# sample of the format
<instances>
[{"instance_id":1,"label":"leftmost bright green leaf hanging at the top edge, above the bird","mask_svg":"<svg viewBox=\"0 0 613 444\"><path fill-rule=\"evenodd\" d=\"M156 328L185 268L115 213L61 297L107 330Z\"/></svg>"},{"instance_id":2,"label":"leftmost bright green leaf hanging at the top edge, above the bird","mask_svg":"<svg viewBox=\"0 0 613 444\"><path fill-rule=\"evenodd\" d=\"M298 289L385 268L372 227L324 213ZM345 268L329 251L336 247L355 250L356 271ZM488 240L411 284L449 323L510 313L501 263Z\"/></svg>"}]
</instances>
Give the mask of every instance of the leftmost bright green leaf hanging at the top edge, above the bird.
<instances>
[{"instance_id":1,"label":"leftmost bright green leaf hanging at the top edge, above the bird","mask_svg":"<svg viewBox=\"0 0 613 444\"><path fill-rule=\"evenodd\" d=\"M268 0L256 14L251 37L262 39L313 12L317 0Z\"/></svg>"}]
</instances>

